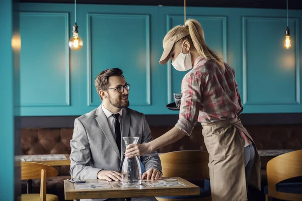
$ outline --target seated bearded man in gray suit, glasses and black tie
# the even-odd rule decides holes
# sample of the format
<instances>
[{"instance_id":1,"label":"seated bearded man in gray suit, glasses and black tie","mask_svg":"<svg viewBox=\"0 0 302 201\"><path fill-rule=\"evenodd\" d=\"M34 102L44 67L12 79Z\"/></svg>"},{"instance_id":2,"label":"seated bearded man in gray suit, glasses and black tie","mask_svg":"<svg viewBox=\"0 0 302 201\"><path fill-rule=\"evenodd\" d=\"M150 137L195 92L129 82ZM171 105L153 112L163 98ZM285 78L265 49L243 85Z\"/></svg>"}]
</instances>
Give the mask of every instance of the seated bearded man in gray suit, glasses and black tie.
<instances>
[{"instance_id":1,"label":"seated bearded man in gray suit, glasses and black tie","mask_svg":"<svg viewBox=\"0 0 302 201\"><path fill-rule=\"evenodd\" d=\"M74 121L70 141L70 175L73 178L121 181L120 172L125 152L122 137L139 136L138 143L152 141L144 115L128 108L130 85L122 74L123 71L118 68L101 72L95 79L95 86L102 104ZM142 179L162 178L162 166L157 151L141 156L140 161L146 170ZM131 200L157 199L137 197Z\"/></svg>"}]
</instances>

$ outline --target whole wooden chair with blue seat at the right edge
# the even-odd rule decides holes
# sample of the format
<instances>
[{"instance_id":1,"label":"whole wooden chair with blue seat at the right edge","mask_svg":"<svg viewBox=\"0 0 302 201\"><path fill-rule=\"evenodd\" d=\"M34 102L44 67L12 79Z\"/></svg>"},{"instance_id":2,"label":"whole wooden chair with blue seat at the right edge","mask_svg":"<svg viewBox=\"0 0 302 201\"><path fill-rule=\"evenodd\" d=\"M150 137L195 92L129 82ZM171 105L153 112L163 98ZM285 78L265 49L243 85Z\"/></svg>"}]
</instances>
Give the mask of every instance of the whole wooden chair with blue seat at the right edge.
<instances>
[{"instance_id":1,"label":"whole wooden chair with blue seat at the right edge","mask_svg":"<svg viewBox=\"0 0 302 201\"><path fill-rule=\"evenodd\" d=\"M283 200L302 200L302 182L280 183L281 181L302 177L302 150L282 154L269 160L266 165L268 193L270 197Z\"/></svg>"}]
</instances>

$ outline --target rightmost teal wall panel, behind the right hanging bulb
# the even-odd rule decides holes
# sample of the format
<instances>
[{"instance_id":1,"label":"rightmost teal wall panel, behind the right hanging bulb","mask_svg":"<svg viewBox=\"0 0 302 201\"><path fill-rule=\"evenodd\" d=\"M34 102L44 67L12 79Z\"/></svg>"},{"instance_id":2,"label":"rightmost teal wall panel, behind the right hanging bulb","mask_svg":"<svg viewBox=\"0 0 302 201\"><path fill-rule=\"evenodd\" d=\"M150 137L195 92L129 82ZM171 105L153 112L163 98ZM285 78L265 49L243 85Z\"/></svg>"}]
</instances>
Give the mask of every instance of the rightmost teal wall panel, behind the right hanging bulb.
<instances>
[{"instance_id":1,"label":"rightmost teal wall panel, behind the right hanging bulb","mask_svg":"<svg viewBox=\"0 0 302 201\"><path fill-rule=\"evenodd\" d=\"M243 103L300 103L298 19L289 19L292 47L284 48L286 18L243 18Z\"/></svg>"}]
</instances>

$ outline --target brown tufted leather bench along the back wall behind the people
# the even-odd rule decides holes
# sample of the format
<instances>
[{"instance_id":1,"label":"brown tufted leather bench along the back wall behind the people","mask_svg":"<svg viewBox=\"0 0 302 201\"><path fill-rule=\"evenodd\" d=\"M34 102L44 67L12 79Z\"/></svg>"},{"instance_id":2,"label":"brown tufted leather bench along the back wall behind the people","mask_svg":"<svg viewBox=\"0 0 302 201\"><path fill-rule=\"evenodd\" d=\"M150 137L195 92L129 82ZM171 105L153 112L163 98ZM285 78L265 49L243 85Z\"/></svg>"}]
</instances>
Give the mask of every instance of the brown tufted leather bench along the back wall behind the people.
<instances>
[{"instance_id":1,"label":"brown tufted leather bench along the back wall behind the people","mask_svg":"<svg viewBox=\"0 0 302 201\"><path fill-rule=\"evenodd\" d=\"M158 138L172 127L150 127L153 138ZM246 126L253 137L258 149L302 149L302 125L286 126ZM21 130L21 154L70 154L70 140L73 128L34 129ZM206 151L202 127L196 126L191 136L159 149L159 153L178 150L203 150ZM262 157L262 168L272 157ZM69 166L55 167L59 176L47 181L47 193L56 194L59 200L64 200L63 179L69 178ZM263 184L265 171L263 171ZM39 182L33 182L33 192L39 190ZM26 193L26 182L23 181L22 193Z\"/></svg>"}]
</instances>

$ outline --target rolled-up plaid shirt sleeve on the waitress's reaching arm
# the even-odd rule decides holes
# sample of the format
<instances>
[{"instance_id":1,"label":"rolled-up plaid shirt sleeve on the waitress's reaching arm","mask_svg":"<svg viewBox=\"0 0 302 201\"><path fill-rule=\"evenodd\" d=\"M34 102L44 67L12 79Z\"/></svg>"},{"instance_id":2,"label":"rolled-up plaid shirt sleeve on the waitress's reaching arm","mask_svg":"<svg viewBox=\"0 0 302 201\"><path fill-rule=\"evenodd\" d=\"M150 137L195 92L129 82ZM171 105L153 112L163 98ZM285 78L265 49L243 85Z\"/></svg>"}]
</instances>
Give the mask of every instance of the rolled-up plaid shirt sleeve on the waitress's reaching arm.
<instances>
[{"instance_id":1,"label":"rolled-up plaid shirt sleeve on the waitress's reaching arm","mask_svg":"<svg viewBox=\"0 0 302 201\"><path fill-rule=\"evenodd\" d=\"M182 80L181 92L179 120L175 126L189 136L198 120L202 97L202 79L191 73L186 74Z\"/></svg>"}]
</instances>

